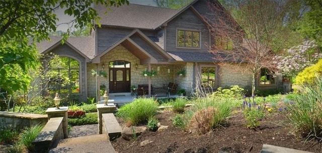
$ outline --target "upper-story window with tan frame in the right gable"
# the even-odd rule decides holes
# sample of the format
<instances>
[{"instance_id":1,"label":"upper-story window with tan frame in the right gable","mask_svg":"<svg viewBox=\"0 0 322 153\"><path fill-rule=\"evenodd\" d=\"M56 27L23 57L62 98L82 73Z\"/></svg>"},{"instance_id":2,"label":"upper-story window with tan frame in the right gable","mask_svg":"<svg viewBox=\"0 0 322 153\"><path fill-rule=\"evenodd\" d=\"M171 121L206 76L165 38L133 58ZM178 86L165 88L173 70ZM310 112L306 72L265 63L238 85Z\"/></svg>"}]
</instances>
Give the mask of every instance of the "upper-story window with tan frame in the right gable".
<instances>
[{"instance_id":1,"label":"upper-story window with tan frame in the right gable","mask_svg":"<svg viewBox=\"0 0 322 153\"><path fill-rule=\"evenodd\" d=\"M200 48L200 32L178 30L177 47Z\"/></svg>"}]
</instances>

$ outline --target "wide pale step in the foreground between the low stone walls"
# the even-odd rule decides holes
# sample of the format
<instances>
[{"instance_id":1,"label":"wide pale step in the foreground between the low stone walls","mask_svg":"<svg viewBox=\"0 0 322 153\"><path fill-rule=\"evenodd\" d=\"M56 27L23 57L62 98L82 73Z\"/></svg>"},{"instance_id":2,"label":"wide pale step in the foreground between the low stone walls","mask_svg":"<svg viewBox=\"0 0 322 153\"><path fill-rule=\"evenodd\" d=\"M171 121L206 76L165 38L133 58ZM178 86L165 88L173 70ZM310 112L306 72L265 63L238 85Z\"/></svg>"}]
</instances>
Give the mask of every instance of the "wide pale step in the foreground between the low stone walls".
<instances>
[{"instance_id":1,"label":"wide pale step in the foreground between the low stone walls","mask_svg":"<svg viewBox=\"0 0 322 153\"><path fill-rule=\"evenodd\" d=\"M109 137L106 134L79 136L74 138L60 139L49 150L50 153L87 153L87 152L107 152L116 153Z\"/></svg>"}]
</instances>

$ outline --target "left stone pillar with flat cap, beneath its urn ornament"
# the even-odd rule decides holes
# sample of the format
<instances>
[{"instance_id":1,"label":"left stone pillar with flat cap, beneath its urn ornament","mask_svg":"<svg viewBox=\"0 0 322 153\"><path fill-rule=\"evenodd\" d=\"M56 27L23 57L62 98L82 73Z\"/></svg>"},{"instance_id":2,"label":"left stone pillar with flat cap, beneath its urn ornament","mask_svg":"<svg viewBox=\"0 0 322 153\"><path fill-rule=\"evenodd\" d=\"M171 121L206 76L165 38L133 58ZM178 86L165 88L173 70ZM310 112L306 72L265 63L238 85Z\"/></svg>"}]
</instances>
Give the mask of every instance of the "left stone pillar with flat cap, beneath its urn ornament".
<instances>
[{"instance_id":1,"label":"left stone pillar with flat cap, beneath its urn ornament","mask_svg":"<svg viewBox=\"0 0 322 153\"><path fill-rule=\"evenodd\" d=\"M46 114L48 115L48 119L53 117L63 117L62 119L62 130L64 133L64 138L68 138L68 114L67 114L68 107L50 107L46 110Z\"/></svg>"}]
</instances>

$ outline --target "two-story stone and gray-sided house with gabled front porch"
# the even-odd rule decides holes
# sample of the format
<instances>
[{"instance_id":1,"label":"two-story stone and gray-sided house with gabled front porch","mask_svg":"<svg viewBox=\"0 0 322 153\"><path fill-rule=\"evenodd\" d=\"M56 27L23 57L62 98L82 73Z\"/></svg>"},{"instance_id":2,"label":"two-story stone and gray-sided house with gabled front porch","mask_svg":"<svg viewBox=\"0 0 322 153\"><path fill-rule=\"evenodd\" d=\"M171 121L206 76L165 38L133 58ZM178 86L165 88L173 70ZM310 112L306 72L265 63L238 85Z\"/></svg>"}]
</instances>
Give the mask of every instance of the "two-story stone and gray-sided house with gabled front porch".
<instances>
[{"instance_id":1,"label":"two-story stone and gray-sided house with gabled front porch","mask_svg":"<svg viewBox=\"0 0 322 153\"><path fill-rule=\"evenodd\" d=\"M163 87L169 82L178 84L178 88L186 89L187 93L197 86L250 88L251 75L216 65L209 53L206 44L215 43L205 20L213 18L209 15L209 3L219 4L195 0L181 10L130 4L111 8L107 15L106 8L95 5L102 18L101 28L89 37L71 37L63 45L60 37L52 37L51 42L40 43L39 50L78 63L78 67L67 64L64 70L69 75L70 72L78 74L70 81L77 87L72 94L81 101L95 97L100 85L109 93L119 93L131 92L131 86L148 84L149 95L152 87ZM177 74L182 69L186 70L184 76ZM107 77L96 79L93 70L106 72ZM142 75L145 70L158 74L145 77ZM257 88L281 87L281 79L272 77L264 69L259 76L262 77L257 79Z\"/></svg>"}]
</instances>

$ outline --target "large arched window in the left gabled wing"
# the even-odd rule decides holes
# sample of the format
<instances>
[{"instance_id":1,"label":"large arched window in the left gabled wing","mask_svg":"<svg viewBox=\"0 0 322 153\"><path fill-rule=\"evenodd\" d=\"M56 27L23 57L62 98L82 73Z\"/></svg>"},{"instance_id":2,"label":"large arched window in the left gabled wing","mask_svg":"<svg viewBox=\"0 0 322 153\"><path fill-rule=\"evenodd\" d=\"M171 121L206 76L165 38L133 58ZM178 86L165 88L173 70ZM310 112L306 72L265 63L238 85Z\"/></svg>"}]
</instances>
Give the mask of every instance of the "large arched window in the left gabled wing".
<instances>
[{"instance_id":1,"label":"large arched window in the left gabled wing","mask_svg":"<svg viewBox=\"0 0 322 153\"><path fill-rule=\"evenodd\" d=\"M70 94L80 93L79 62L69 57L55 57L49 61L47 77L49 92Z\"/></svg>"}]
</instances>

